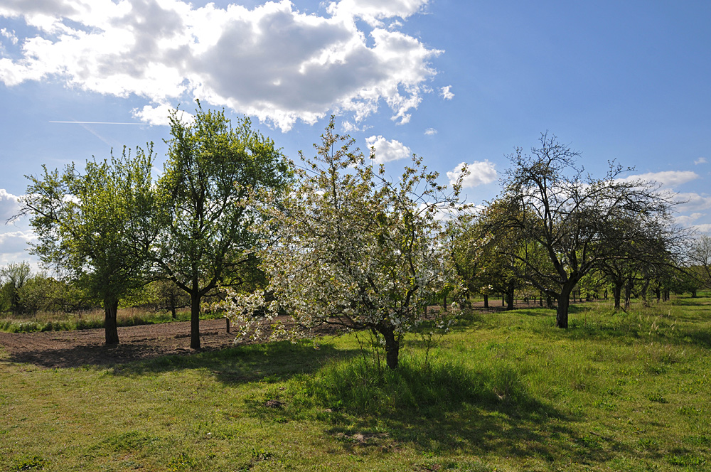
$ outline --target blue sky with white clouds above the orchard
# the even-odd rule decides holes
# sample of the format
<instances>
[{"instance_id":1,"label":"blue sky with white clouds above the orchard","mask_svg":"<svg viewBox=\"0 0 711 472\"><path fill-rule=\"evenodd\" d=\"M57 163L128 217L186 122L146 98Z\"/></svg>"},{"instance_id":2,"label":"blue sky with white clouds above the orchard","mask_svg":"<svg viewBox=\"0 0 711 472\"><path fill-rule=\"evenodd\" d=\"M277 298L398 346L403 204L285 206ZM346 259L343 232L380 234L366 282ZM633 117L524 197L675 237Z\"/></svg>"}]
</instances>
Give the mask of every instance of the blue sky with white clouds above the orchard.
<instances>
[{"instance_id":1,"label":"blue sky with white clouds above the orchard","mask_svg":"<svg viewBox=\"0 0 711 472\"><path fill-rule=\"evenodd\" d=\"M416 153L494 198L546 130L602 176L610 159L678 193L711 230L707 1L2 0L0 217L26 174L154 141L198 98L247 114L292 159L328 117L397 176ZM53 122L112 122L80 124ZM34 260L26 221L0 264Z\"/></svg>"}]
</instances>

